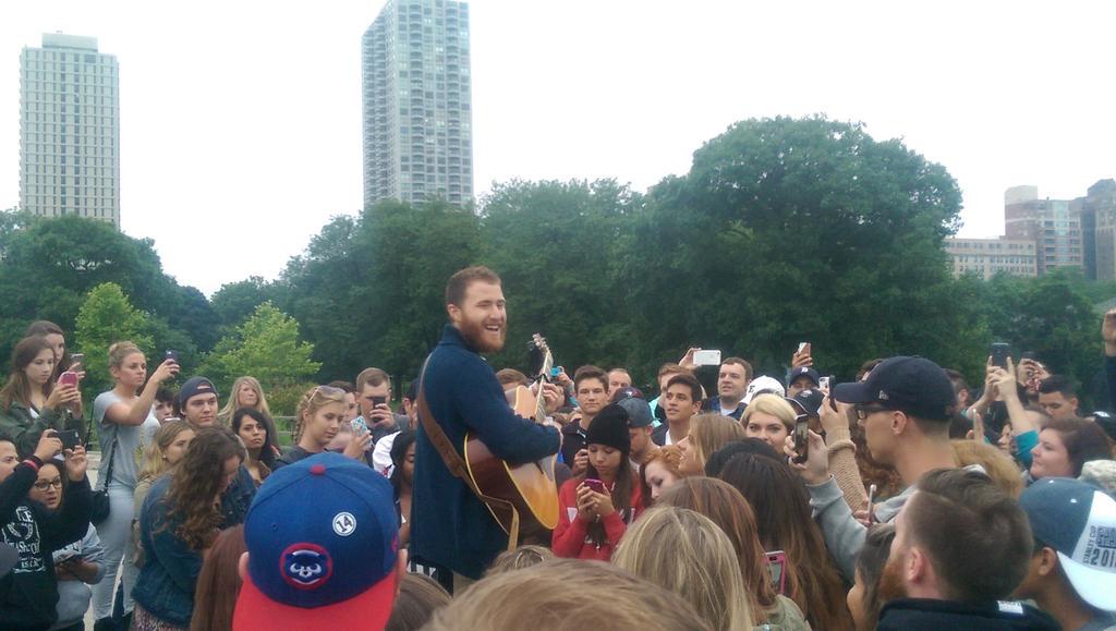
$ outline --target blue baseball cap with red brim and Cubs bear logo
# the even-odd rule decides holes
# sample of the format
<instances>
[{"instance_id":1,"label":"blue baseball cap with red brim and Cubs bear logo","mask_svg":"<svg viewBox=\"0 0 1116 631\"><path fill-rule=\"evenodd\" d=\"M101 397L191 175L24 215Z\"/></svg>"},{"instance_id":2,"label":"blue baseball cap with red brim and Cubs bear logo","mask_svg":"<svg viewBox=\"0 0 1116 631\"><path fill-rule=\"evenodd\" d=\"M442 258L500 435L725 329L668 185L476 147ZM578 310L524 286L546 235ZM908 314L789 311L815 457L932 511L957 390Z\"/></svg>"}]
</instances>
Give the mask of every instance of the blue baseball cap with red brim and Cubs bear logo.
<instances>
[{"instance_id":1,"label":"blue baseball cap with red brim and Cubs bear logo","mask_svg":"<svg viewBox=\"0 0 1116 631\"><path fill-rule=\"evenodd\" d=\"M277 470L244 519L233 629L383 629L398 527L391 482L356 460L327 452Z\"/></svg>"}]
</instances>

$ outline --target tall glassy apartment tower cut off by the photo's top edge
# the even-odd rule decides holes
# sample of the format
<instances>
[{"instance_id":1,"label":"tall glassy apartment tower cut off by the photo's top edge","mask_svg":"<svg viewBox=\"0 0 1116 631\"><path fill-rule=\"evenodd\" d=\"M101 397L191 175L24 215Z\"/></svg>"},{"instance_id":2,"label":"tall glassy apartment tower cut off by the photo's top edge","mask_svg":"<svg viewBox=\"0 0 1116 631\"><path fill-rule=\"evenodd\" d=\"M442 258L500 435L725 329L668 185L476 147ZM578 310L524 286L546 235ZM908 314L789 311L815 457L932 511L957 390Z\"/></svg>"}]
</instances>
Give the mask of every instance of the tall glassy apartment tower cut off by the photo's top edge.
<instances>
[{"instance_id":1,"label":"tall glassy apartment tower cut off by the photo's top edge","mask_svg":"<svg viewBox=\"0 0 1116 631\"><path fill-rule=\"evenodd\" d=\"M364 204L473 199L469 4L387 0L360 42Z\"/></svg>"}]
</instances>

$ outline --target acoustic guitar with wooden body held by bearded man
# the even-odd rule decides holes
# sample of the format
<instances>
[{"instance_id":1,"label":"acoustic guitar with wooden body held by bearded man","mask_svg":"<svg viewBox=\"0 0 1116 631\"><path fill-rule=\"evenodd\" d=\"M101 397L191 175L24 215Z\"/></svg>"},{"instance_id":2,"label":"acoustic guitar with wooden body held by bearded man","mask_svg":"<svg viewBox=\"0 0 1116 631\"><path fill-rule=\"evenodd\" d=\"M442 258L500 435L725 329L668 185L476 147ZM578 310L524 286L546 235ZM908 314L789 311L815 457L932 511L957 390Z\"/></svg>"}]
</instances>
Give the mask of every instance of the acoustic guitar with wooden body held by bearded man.
<instances>
[{"instance_id":1,"label":"acoustic guitar with wooden body held by bearded man","mask_svg":"<svg viewBox=\"0 0 1116 631\"><path fill-rule=\"evenodd\" d=\"M542 384L550 381L554 357L546 340L531 336L531 344L542 352L542 369L537 381L539 395L527 386L516 389L512 409L525 419L546 422L547 413L541 395ZM552 530L558 525L558 485L555 481L555 456L536 462L509 465L489 451L481 440L465 433L464 460L477 488L488 497L503 501L485 501L492 517L509 535L512 534L514 510L519 516L519 537Z\"/></svg>"}]
</instances>

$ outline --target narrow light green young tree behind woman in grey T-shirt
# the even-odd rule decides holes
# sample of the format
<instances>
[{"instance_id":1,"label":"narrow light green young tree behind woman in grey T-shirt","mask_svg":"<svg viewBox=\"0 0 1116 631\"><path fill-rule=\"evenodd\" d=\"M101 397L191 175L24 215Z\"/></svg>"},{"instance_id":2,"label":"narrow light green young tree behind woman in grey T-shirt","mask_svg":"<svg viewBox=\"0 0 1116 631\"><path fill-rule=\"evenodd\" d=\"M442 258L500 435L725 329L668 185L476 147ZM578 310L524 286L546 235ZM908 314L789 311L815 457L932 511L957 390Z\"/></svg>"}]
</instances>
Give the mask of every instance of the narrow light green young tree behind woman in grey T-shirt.
<instances>
[{"instance_id":1,"label":"narrow light green young tree behind woman in grey T-shirt","mask_svg":"<svg viewBox=\"0 0 1116 631\"><path fill-rule=\"evenodd\" d=\"M86 395L112 388L108 373L108 347L129 341L151 356L153 341L144 333L147 326L143 313L132 306L119 285L105 283L94 287L77 316L74 338L85 353L86 377L81 384Z\"/></svg>"}]
</instances>

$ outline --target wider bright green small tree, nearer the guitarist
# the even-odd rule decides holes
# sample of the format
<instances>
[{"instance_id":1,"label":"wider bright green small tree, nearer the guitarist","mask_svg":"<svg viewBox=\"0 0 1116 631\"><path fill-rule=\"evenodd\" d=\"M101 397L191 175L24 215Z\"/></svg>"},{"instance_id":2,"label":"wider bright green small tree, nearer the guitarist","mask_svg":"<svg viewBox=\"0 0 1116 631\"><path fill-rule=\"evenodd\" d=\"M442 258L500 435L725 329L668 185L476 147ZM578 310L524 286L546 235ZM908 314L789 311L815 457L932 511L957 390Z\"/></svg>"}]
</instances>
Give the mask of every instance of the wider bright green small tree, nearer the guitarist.
<instances>
[{"instance_id":1,"label":"wider bright green small tree, nearer the guitarist","mask_svg":"<svg viewBox=\"0 0 1116 631\"><path fill-rule=\"evenodd\" d=\"M202 363L202 373L228 391L242 375L260 380L266 390L308 381L321 369L311 360L314 345L300 342L298 322L264 303L218 342Z\"/></svg>"}]
</instances>

